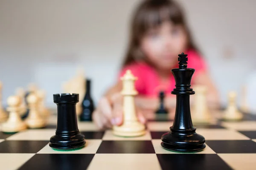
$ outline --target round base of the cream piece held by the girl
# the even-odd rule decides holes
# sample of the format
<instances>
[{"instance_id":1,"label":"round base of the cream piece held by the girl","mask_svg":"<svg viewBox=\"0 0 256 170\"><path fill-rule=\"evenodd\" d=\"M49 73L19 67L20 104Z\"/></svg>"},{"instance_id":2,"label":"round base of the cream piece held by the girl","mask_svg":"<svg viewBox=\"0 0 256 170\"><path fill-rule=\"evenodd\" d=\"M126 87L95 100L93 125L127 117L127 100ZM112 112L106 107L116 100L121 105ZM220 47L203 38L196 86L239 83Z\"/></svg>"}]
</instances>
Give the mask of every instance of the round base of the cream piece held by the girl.
<instances>
[{"instance_id":1,"label":"round base of the cream piece held by the girl","mask_svg":"<svg viewBox=\"0 0 256 170\"><path fill-rule=\"evenodd\" d=\"M140 122L127 123L113 127L113 134L116 136L136 137L143 136L145 133L145 125Z\"/></svg>"}]
</instances>

